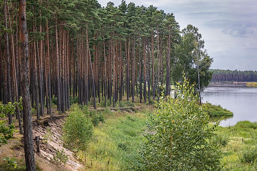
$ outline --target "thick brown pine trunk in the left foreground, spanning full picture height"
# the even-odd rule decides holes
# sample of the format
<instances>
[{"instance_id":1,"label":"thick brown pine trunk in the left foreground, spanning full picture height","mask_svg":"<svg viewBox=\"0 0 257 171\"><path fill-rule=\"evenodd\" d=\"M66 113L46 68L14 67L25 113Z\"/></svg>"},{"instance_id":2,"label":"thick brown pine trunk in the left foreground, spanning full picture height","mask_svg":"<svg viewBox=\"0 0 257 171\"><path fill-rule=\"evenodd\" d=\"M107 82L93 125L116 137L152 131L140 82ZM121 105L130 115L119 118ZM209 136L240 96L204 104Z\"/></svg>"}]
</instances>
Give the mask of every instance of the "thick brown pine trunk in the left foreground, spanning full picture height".
<instances>
[{"instance_id":1,"label":"thick brown pine trunk in the left foreground, spanning full picture height","mask_svg":"<svg viewBox=\"0 0 257 171\"><path fill-rule=\"evenodd\" d=\"M28 56L28 32L26 23L26 0L19 1L19 25L21 37L21 95L23 97L23 129L24 129L24 152L26 171L36 170L33 139L32 119L30 106L29 88L29 56Z\"/></svg>"}]
</instances>

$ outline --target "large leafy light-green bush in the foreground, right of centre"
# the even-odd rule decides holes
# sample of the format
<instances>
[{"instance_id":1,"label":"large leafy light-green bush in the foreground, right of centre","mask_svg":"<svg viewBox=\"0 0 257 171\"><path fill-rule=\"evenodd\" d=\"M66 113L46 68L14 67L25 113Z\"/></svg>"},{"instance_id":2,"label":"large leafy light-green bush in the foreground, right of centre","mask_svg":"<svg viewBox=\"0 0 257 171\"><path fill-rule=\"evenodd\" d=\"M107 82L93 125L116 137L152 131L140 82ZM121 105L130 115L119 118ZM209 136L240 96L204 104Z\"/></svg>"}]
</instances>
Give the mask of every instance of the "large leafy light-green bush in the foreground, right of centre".
<instances>
[{"instance_id":1,"label":"large leafy light-green bush in the foreground, right of centre","mask_svg":"<svg viewBox=\"0 0 257 171\"><path fill-rule=\"evenodd\" d=\"M184 77L177 98L161 97L148 123L148 141L141 150L138 170L218 170L220 151L212 137L205 109L197 105L194 85Z\"/></svg>"}]
</instances>

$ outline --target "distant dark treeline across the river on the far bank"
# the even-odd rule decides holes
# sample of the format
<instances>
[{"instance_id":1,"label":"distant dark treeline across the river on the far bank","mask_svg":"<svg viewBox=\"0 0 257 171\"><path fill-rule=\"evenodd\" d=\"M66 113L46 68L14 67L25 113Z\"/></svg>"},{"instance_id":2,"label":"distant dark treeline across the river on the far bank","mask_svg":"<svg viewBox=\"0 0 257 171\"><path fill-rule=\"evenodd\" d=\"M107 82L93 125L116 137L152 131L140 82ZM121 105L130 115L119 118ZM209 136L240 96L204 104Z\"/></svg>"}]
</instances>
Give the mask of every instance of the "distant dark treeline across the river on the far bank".
<instances>
[{"instance_id":1,"label":"distant dark treeline across the river on the far bank","mask_svg":"<svg viewBox=\"0 0 257 171\"><path fill-rule=\"evenodd\" d=\"M257 71L238 71L210 69L212 74L211 82L216 81L257 81Z\"/></svg>"}]
</instances>

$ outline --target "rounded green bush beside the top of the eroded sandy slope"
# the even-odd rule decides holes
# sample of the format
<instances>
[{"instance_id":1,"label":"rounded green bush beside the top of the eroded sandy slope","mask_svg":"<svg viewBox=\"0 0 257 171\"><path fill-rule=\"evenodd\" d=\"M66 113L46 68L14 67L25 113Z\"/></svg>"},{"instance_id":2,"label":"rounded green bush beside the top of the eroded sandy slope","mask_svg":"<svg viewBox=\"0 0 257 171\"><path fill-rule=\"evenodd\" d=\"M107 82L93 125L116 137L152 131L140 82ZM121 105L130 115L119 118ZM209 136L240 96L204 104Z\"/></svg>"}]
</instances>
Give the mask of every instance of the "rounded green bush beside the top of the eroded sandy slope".
<instances>
[{"instance_id":1,"label":"rounded green bush beside the top of the eroded sandy slope","mask_svg":"<svg viewBox=\"0 0 257 171\"><path fill-rule=\"evenodd\" d=\"M82 111L76 104L72 106L62 131L64 147L72 151L85 150L94 134L92 122L85 111Z\"/></svg>"}]
</instances>

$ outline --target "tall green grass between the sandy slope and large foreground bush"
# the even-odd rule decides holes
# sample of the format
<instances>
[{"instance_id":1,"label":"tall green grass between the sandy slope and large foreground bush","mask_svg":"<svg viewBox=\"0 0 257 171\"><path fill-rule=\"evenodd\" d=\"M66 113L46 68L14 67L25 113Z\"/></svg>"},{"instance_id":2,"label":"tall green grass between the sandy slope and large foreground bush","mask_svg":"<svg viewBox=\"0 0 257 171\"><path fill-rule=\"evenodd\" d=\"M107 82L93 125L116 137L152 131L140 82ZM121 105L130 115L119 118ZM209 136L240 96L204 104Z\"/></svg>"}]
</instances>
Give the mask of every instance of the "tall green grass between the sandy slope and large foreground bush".
<instances>
[{"instance_id":1,"label":"tall green grass between the sandy slope and large foreground bush","mask_svg":"<svg viewBox=\"0 0 257 171\"><path fill-rule=\"evenodd\" d=\"M116 111L95 127L95 140L87 151L77 152L82 170L129 170L137 162L146 130L144 112Z\"/></svg>"}]
</instances>

